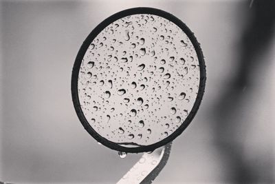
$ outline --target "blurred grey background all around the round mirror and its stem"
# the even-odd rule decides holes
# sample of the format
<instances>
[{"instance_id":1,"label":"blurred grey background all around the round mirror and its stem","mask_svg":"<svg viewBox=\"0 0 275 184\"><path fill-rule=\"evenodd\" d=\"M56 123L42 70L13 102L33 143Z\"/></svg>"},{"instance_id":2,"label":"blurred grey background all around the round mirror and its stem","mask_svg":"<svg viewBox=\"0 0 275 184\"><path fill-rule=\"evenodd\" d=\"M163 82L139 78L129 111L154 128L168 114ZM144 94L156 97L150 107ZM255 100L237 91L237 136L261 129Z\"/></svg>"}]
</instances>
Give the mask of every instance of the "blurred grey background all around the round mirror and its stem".
<instances>
[{"instance_id":1,"label":"blurred grey background all around the round mirror and its stem","mask_svg":"<svg viewBox=\"0 0 275 184\"><path fill-rule=\"evenodd\" d=\"M166 10L195 32L206 92L154 183L275 182L274 1L0 1L0 181L115 183L140 158L98 143L74 111L74 59L126 8Z\"/></svg>"}]
</instances>

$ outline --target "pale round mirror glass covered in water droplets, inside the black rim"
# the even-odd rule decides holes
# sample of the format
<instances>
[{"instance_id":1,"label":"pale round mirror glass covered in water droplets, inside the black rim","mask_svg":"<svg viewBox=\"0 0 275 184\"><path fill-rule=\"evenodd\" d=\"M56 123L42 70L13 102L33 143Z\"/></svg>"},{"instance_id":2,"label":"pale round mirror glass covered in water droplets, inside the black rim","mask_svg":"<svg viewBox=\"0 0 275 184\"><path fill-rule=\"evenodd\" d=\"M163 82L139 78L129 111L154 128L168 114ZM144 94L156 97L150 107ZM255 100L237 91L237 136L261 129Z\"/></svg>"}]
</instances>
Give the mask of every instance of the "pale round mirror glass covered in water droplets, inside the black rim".
<instances>
[{"instance_id":1,"label":"pale round mirror glass covered in water droplets, inside the black rim","mask_svg":"<svg viewBox=\"0 0 275 184\"><path fill-rule=\"evenodd\" d=\"M197 98L199 61L175 23L152 14L123 17L91 42L78 74L85 118L125 147L175 132Z\"/></svg>"}]
</instances>

